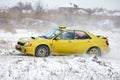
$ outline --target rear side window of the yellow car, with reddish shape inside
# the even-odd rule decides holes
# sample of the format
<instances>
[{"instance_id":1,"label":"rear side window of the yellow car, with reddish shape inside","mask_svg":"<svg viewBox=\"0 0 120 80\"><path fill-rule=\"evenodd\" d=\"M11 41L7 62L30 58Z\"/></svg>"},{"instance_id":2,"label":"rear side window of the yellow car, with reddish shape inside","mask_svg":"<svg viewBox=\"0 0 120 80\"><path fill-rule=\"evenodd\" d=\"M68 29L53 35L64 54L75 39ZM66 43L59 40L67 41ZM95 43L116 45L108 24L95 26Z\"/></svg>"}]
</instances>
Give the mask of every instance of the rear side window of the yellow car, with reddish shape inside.
<instances>
[{"instance_id":1,"label":"rear side window of the yellow car, with reddish shape inside","mask_svg":"<svg viewBox=\"0 0 120 80\"><path fill-rule=\"evenodd\" d=\"M75 39L91 39L84 31L75 31Z\"/></svg>"}]
</instances>

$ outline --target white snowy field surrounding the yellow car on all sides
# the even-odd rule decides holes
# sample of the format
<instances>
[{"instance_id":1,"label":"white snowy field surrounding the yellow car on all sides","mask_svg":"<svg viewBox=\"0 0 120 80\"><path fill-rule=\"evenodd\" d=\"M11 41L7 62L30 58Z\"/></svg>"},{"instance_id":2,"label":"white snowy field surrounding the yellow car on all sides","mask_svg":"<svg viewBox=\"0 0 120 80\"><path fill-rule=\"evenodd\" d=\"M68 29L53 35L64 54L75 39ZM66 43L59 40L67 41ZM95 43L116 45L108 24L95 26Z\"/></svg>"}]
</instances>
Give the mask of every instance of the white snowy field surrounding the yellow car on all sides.
<instances>
[{"instance_id":1,"label":"white snowy field surrounding the yellow car on all sides","mask_svg":"<svg viewBox=\"0 0 120 80\"><path fill-rule=\"evenodd\" d=\"M109 54L98 59L87 55L25 56L15 51L17 40L43 33L26 29L10 33L0 29L0 80L120 80L120 29L89 31L109 37Z\"/></svg>"}]
</instances>

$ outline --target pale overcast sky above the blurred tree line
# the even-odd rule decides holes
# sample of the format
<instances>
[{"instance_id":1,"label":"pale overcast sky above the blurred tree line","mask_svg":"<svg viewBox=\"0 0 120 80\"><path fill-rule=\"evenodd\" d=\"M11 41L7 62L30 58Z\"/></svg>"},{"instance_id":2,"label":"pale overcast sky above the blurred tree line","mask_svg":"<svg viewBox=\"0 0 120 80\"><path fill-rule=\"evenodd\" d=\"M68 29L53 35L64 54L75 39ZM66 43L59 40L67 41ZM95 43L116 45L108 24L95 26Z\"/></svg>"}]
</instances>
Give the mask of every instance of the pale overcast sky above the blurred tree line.
<instances>
[{"instance_id":1,"label":"pale overcast sky above the blurred tree line","mask_svg":"<svg viewBox=\"0 0 120 80\"><path fill-rule=\"evenodd\" d=\"M35 6L39 0L0 0L0 7L14 6L18 2L31 2ZM106 8L106 9L120 9L120 0L41 0L44 8L58 8L69 7L70 3L77 4L80 8Z\"/></svg>"}]
</instances>

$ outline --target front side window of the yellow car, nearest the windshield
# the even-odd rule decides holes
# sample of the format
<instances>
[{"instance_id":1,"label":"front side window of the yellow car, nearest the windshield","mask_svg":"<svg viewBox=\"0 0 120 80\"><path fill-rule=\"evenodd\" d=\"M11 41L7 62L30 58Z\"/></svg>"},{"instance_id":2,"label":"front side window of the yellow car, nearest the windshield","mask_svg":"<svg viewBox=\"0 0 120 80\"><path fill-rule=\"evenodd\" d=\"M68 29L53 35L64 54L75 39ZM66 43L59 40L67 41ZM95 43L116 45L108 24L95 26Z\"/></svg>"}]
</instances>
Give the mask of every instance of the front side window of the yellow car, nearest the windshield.
<instances>
[{"instance_id":1,"label":"front side window of the yellow car, nearest the windshield","mask_svg":"<svg viewBox=\"0 0 120 80\"><path fill-rule=\"evenodd\" d=\"M72 40L72 39L74 39L74 31L64 31L60 35L60 39L62 39L62 40Z\"/></svg>"}]
</instances>

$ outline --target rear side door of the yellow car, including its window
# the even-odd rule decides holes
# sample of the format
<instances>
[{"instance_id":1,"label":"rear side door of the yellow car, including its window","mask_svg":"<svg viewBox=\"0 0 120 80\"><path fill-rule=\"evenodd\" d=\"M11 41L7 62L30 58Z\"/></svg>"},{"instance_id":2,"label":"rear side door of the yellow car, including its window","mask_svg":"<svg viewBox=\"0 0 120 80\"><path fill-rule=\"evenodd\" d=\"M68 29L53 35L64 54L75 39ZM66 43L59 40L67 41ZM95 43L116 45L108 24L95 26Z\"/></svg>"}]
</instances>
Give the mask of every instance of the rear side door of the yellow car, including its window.
<instances>
[{"instance_id":1,"label":"rear side door of the yellow car, including its window","mask_svg":"<svg viewBox=\"0 0 120 80\"><path fill-rule=\"evenodd\" d=\"M92 39L86 32L76 30L74 44L76 53L84 53L91 47Z\"/></svg>"}]
</instances>

